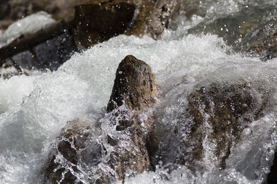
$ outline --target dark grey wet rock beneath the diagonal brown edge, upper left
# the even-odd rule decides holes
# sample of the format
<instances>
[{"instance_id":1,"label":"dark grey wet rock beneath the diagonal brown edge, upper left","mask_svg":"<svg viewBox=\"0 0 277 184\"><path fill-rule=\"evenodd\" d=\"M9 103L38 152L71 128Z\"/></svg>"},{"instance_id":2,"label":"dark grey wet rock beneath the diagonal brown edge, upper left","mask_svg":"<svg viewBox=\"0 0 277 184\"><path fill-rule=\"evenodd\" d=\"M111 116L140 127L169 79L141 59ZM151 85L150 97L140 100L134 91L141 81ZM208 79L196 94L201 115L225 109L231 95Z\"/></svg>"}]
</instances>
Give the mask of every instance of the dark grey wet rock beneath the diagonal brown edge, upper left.
<instances>
[{"instance_id":1,"label":"dark grey wet rock beneath the diagonal brown edge, upper left","mask_svg":"<svg viewBox=\"0 0 277 184\"><path fill-rule=\"evenodd\" d=\"M24 43L21 44L21 46ZM31 45L31 44L30 44ZM7 48L8 49L8 48ZM0 48L0 52L4 53L6 48ZM47 39L42 43L34 44L33 47L22 48L22 52L12 55L6 59L3 54L0 55L0 63L6 63L6 60L13 61L12 65L19 65L21 69L27 70L57 70L65 61L70 59L74 52L78 49L75 46L73 36L70 32L65 31L63 34L57 35L53 39ZM17 52L15 52L17 53ZM8 54L5 52L5 54ZM3 59L2 59L3 58Z\"/></svg>"}]
</instances>

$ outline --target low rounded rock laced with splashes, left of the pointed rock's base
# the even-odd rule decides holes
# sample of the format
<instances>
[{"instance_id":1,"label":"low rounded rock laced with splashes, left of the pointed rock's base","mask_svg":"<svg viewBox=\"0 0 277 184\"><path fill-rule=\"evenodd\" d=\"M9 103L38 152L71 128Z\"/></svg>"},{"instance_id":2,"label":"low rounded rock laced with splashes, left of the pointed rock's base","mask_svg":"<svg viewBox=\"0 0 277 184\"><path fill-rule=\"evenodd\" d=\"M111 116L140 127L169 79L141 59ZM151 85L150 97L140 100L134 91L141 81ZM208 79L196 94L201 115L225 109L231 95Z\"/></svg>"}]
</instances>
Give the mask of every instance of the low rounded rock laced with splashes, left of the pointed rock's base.
<instances>
[{"instance_id":1,"label":"low rounded rock laced with splashes, left of the pointed rock's base","mask_svg":"<svg viewBox=\"0 0 277 184\"><path fill-rule=\"evenodd\" d=\"M98 128L89 121L67 123L49 155L43 170L45 178L51 183L73 183L78 179L78 173L82 172L78 164L87 164L88 167L98 165L102 148L94 138L99 134Z\"/></svg>"}]
</instances>

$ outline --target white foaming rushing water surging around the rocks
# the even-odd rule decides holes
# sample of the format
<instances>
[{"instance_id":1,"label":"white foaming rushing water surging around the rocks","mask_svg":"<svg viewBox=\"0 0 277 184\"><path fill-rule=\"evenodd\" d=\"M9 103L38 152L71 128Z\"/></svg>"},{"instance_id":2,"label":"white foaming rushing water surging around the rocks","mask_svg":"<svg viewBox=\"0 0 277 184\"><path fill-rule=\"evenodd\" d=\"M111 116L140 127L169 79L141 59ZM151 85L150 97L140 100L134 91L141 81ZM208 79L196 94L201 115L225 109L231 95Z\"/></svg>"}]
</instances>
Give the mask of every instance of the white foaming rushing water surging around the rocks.
<instances>
[{"instance_id":1,"label":"white foaming rushing water surging around the rocks","mask_svg":"<svg viewBox=\"0 0 277 184\"><path fill-rule=\"evenodd\" d=\"M184 1L179 16L154 41L119 35L76 53L55 72L0 79L0 183L39 183L40 170L62 127L73 119L102 119L118 63L128 54L148 63L156 74L161 98L155 123L166 143L188 107L187 95L209 83L247 81L259 99L260 86L270 90L271 106L265 116L242 132L231 148L226 169L217 170L205 142L204 171L186 166L172 172L157 165L126 183L261 183L265 181L277 143L277 59L262 62L235 52L240 39L258 23L276 15L271 1ZM186 18L185 15L190 14ZM34 21L29 19L29 21ZM3 34L1 35L3 37ZM102 126L105 131L105 125ZM173 137L174 143L183 139ZM174 155L174 154L173 154ZM170 161L170 159L168 159ZM86 172L86 170L84 170ZM86 175L86 174L84 174ZM89 173L87 172L89 178ZM93 176L91 176L93 177ZM82 179L82 178L81 178ZM84 182L89 183L89 179ZM118 181L119 182L119 181Z\"/></svg>"}]
</instances>

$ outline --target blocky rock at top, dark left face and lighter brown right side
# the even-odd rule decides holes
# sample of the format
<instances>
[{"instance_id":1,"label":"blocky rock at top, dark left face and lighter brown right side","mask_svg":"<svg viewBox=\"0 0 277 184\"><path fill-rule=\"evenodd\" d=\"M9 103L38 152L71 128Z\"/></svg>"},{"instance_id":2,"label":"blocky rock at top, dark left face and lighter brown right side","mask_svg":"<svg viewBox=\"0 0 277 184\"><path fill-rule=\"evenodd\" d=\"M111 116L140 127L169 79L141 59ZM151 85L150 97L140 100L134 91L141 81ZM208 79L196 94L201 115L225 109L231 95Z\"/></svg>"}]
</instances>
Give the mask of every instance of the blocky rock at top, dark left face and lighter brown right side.
<instances>
[{"instance_id":1,"label":"blocky rock at top, dark left face and lighter brown right side","mask_svg":"<svg viewBox=\"0 0 277 184\"><path fill-rule=\"evenodd\" d=\"M123 33L158 39L179 6L179 0L98 0L76 6L75 41L88 48Z\"/></svg>"}]
</instances>

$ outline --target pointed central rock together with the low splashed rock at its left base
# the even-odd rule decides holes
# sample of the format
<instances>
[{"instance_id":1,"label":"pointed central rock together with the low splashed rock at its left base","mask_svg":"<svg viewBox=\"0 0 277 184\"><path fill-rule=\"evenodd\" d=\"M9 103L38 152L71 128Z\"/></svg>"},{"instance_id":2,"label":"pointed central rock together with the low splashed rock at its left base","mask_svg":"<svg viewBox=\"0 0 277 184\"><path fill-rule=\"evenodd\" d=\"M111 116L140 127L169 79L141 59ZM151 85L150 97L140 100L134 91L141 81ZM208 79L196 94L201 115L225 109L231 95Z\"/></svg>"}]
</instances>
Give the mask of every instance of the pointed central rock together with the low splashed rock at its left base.
<instances>
[{"instance_id":1,"label":"pointed central rock together with the low splashed rock at its left base","mask_svg":"<svg viewBox=\"0 0 277 184\"><path fill-rule=\"evenodd\" d=\"M69 123L43 170L46 180L82 183L76 176L81 173L80 165L84 164L95 168L94 180L89 180L94 183L110 183L116 178L124 181L127 176L152 170L146 143L156 96L150 66L133 56L125 57L116 71L107 105L110 113L105 128L110 131L102 133L102 144L91 141L98 132L91 131L95 128L89 123Z\"/></svg>"}]
</instances>

